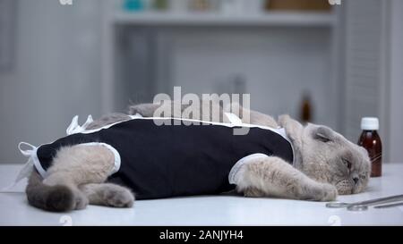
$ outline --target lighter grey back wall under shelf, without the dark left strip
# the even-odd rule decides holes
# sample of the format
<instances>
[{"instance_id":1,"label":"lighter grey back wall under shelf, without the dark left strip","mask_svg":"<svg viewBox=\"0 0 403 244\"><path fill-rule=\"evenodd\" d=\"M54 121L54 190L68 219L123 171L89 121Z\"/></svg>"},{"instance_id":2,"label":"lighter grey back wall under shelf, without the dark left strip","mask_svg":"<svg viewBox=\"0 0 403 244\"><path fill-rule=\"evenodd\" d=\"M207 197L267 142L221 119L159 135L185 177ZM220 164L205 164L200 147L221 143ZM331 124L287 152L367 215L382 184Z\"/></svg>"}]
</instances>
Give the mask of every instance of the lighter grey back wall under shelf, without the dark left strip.
<instances>
[{"instance_id":1,"label":"lighter grey back wall under shelf, without the dark left strip","mask_svg":"<svg viewBox=\"0 0 403 244\"><path fill-rule=\"evenodd\" d=\"M231 80L241 75L240 92L251 94L253 109L296 118L303 92L309 91L314 122L335 128L329 109L330 37L327 28L184 29L171 39L171 80L183 93L231 93Z\"/></svg>"}]
</instances>

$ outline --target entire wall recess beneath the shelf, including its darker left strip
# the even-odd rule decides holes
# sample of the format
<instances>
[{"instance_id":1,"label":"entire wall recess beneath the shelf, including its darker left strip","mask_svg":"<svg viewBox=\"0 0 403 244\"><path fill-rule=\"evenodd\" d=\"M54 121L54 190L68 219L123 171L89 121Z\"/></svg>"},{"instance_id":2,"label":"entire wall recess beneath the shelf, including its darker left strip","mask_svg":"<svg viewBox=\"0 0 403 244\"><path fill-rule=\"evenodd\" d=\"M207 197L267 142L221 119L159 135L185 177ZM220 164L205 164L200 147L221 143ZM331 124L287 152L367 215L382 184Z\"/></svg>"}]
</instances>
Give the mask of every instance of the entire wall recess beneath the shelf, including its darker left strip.
<instances>
[{"instance_id":1,"label":"entire wall recess beneath the shelf, including its darker left strip","mask_svg":"<svg viewBox=\"0 0 403 244\"><path fill-rule=\"evenodd\" d=\"M148 90L172 96L174 86L180 86L182 95L250 93L254 110L298 118L307 91L313 121L338 129L337 114L330 109L336 92L330 72L331 28L133 27L122 33L118 43L125 45L117 48L117 56L124 61L117 66L125 68L116 72L126 72L114 83L117 109L129 98L142 102ZM150 63L157 67L149 70ZM237 77L244 81L239 88ZM153 79L153 88L144 87Z\"/></svg>"}]
</instances>

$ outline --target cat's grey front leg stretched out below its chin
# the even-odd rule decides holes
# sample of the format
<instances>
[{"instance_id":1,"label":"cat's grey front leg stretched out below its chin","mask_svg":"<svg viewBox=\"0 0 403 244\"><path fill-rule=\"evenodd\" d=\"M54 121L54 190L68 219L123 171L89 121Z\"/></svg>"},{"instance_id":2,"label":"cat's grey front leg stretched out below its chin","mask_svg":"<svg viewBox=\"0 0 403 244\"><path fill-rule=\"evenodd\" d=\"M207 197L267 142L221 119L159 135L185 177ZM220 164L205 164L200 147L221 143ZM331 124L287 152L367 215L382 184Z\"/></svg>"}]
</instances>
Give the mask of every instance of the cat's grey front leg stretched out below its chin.
<instances>
[{"instance_id":1,"label":"cat's grey front leg stretched out below its chin","mask_svg":"<svg viewBox=\"0 0 403 244\"><path fill-rule=\"evenodd\" d=\"M334 186L313 181L277 156L253 159L237 173L236 189L249 197L330 201L338 196Z\"/></svg>"}]
</instances>

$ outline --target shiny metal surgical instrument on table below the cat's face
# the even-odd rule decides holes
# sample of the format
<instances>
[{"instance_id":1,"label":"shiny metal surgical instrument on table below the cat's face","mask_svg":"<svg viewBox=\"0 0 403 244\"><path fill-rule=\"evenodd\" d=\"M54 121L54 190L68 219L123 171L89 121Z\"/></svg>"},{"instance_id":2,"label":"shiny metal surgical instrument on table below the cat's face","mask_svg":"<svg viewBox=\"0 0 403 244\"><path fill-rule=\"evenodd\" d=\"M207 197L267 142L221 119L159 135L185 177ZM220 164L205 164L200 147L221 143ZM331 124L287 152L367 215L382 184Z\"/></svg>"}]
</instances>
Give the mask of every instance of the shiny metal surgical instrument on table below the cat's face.
<instances>
[{"instance_id":1,"label":"shiny metal surgical instrument on table below the cat's face","mask_svg":"<svg viewBox=\"0 0 403 244\"><path fill-rule=\"evenodd\" d=\"M368 209L368 206L391 203L402 201L403 195L395 195L386 198L375 198L371 200L356 202L356 203L342 203L342 202L330 202L326 204L326 207L330 208L341 208L347 207L347 210L351 211L364 211Z\"/></svg>"}]
</instances>

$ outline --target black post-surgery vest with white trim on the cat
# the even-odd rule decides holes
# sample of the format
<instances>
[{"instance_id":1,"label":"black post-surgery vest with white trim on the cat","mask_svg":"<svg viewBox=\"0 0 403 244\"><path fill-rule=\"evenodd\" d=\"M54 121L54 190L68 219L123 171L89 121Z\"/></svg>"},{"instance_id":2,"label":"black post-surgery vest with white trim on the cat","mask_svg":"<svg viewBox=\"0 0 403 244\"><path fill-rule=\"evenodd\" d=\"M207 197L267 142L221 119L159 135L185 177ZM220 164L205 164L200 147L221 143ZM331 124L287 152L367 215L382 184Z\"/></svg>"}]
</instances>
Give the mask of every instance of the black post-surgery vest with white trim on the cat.
<instances>
[{"instance_id":1,"label":"black post-surgery vest with white trim on the cat","mask_svg":"<svg viewBox=\"0 0 403 244\"><path fill-rule=\"evenodd\" d=\"M211 195L235 189L239 167L256 156L279 156L293 163L293 147L284 129L244 123L184 124L190 121L132 116L35 147L31 158L45 178L61 147L105 146L115 155L115 170L108 181L133 189L137 199ZM240 127L248 128L248 133L235 135L234 130Z\"/></svg>"}]
</instances>

